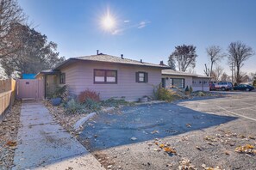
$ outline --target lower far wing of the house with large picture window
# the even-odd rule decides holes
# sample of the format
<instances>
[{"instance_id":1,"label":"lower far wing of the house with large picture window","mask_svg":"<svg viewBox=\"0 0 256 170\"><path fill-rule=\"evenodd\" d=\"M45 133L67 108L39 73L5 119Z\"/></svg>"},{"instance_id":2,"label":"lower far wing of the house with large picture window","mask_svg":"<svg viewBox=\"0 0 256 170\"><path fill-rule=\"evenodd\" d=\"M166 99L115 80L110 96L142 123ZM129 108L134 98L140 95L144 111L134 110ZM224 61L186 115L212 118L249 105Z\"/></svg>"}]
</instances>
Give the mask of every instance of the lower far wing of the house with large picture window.
<instances>
[{"instance_id":1,"label":"lower far wing of the house with large picture window","mask_svg":"<svg viewBox=\"0 0 256 170\"><path fill-rule=\"evenodd\" d=\"M162 70L162 86L164 88L180 88L187 86L194 91L209 91L209 76L190 74L182 71Z\"/></svg>"}]
</instances>

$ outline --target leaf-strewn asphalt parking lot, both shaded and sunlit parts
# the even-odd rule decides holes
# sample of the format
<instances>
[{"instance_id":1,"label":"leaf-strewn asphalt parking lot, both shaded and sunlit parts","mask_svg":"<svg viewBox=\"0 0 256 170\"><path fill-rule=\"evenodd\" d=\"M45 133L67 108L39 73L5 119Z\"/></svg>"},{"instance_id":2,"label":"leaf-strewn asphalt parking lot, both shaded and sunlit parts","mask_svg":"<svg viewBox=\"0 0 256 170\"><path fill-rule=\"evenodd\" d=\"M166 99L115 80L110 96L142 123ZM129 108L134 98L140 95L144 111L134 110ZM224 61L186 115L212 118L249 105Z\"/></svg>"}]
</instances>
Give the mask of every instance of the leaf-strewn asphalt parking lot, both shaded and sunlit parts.
<instances>
[{"instance_id":1,"label":"leaf-strewn asphalt parking lot, both shaded and sunlit parts","mask_svg":"<svg viewBox=\"0 0 256 170\"><path fill-rule=\"evenodd\" d=\"M123 107L86 124L80 141L108 169L256 169L256 93ZM159 145L175 149L166 153Z\"/></svg>"}]
</instances>

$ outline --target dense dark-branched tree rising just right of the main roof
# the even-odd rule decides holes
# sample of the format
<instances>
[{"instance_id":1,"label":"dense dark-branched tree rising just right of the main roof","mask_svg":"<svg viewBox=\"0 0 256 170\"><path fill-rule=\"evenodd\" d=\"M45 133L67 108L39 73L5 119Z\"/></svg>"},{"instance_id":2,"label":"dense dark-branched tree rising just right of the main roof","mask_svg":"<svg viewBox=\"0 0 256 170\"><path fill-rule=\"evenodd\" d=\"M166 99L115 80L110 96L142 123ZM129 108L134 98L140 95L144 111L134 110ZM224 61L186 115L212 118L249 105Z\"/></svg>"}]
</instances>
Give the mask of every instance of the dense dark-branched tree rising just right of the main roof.
<instances>
[{"instance_id":1,"label":"dense dark-branched tree rising just right of the main roof","mask_svg":"<svg viewBox=\"0 0 256 170\"><path fill-rule=\"evenodd\" d=\"M173 58L178 63L178 70L186 71L189 67L196 66L196 46L175 46L175 51L172 52L170 58Z\"/></svg>"}]
</instances>

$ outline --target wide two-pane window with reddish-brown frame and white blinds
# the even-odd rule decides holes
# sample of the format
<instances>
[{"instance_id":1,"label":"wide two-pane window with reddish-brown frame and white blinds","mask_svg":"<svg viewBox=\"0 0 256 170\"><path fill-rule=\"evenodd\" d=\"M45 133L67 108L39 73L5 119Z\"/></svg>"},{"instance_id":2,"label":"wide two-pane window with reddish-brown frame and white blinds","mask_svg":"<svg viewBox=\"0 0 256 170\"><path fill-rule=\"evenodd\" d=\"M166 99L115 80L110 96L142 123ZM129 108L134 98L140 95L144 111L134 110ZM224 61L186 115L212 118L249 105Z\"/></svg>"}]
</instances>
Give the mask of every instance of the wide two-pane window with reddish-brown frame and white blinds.
<instances>
[{"instance_id":1,"label":"wide two-pane window with reddish-brown frame and white blinds","mask_svg":"<svg viewBox=\"0 0 256 170\"><path fill-rule=\"evenodd\" d=\"M94 70L95 84L116 84L117 70Z\"/></svg>"}]
</instances>

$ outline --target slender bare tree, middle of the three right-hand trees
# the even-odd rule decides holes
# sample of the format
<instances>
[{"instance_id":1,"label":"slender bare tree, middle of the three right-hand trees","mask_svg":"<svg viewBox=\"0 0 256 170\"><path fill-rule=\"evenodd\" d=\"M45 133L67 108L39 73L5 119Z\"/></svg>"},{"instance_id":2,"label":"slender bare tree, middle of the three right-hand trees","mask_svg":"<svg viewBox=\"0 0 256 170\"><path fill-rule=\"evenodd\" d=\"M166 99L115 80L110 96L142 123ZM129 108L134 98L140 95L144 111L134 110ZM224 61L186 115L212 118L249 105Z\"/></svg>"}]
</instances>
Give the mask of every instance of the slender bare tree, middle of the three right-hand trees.
<instances>
[{"instance_id":1,"label":"slender bare tree, middle of the three right-hand trees","mask_svg":"<svg viewBox=\"0 0 256 170\"><path fill-rule=\"evenodd\" d=\"M222 48L220 46L209 46L206 48L206 52L210 60L209 76L211 76L213 65L225 55L222 53Z\"/></svg>"}]
</instances>

